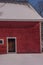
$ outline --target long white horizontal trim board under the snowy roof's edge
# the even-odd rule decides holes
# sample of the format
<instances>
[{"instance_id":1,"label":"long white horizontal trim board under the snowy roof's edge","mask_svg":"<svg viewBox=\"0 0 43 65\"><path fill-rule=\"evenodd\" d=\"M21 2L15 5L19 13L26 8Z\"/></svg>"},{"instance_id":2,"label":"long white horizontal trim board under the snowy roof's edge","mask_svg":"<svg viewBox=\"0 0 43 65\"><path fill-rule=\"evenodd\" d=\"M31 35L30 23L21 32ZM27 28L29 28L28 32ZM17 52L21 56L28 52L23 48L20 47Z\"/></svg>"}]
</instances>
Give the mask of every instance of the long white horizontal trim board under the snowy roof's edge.
<instances>
[{"instance_id":1,"label":"long white horizontal trim board under the snowy roof's edge","mask_svg":"<svg viewBox=\"0 0 43 65\"><path fill-rule=\"evenodd\" d=\"M0 19L0 21L28 21L28 22L37 22L37 21L41 21L41 22L43 22L43 18L41 18L41 19Z\"/></svg>"}]
</instances>

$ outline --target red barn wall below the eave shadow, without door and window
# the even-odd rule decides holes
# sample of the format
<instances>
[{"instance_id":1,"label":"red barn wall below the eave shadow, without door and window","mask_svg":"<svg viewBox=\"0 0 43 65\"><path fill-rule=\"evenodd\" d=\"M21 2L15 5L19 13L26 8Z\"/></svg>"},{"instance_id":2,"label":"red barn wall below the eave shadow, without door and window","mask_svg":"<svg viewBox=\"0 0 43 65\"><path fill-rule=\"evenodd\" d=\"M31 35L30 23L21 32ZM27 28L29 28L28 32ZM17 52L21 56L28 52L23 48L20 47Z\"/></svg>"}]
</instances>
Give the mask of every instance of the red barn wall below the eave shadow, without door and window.
<instances>
[{"instance_id":1,"label":"red barn wall below the eave shadow, without door and window","mask_svg":"<svg viewBox=\"0 0 43 65\"><path fill-rule=\"evenodd\" d=\"M0 27L0 39L4 39L4 45L0 45L0 54L7 53L7 37L16 37L17 53L40 52L40 23L38 22L29 27Z\"/></svg>"}]
</instances>

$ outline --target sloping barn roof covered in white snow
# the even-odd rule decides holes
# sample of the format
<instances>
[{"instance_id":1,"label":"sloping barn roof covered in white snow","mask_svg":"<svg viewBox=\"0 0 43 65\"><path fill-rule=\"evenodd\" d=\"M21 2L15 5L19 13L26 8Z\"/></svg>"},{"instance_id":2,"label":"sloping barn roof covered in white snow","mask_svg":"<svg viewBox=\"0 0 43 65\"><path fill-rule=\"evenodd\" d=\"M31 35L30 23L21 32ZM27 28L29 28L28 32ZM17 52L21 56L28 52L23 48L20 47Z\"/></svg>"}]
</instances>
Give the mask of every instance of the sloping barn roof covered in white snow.
<instances>
[{"instance_id":1,"label":"sloping barn roof covered in white snow","mask_svg":"<svg viewBox=\"0 0 43 65\"><path fill-rule=\"evenodd\" d=\"M29 5L30 6L30 5ZM0 19L42 19L30 6L0 3Z\"/></svg>"}]
</instances>

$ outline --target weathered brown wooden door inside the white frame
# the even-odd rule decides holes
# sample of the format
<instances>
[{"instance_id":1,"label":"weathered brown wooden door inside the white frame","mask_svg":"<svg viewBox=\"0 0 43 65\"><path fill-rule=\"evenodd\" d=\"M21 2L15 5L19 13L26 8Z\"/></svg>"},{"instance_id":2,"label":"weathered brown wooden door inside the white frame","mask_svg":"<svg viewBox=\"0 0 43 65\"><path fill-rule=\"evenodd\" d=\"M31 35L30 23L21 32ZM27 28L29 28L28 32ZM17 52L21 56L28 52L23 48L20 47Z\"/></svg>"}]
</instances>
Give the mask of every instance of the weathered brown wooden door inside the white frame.
<instances>
[{"instance_id":1,"label":"weathered brown wooden door inside the white frame","mask_svg":"<svg viewBox=\"0 0 43 65\"><path fill-rule=\"evenodd\" d=\"M15 50L15 38L8 38L8 52L16 52Z\"/></svg>"}]
</instances>

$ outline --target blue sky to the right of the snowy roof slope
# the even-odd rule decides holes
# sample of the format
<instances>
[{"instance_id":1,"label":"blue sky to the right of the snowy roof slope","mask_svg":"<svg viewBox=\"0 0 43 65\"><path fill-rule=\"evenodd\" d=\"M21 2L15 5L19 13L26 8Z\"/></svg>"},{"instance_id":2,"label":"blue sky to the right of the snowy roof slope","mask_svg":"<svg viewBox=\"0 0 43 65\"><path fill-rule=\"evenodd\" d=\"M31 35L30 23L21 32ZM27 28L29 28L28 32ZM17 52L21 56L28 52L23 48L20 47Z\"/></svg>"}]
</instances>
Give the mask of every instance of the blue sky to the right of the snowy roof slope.
<instances>
[{"instance_id":1,"label":"blue sky to the right of the snowy roof slope","mask_svg":"<svg viewBox=\"0 0 43 65\"><path fill-rule=\"evenodd\" d=\"M43 17L43 0L28 0L32 7ZM39 3L40 2L40 3ZM42 3L42 6L41 6Z\"/></svg>"}]
</instances>

